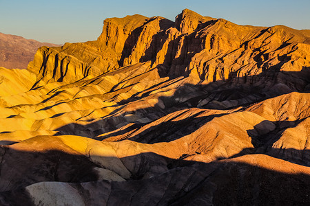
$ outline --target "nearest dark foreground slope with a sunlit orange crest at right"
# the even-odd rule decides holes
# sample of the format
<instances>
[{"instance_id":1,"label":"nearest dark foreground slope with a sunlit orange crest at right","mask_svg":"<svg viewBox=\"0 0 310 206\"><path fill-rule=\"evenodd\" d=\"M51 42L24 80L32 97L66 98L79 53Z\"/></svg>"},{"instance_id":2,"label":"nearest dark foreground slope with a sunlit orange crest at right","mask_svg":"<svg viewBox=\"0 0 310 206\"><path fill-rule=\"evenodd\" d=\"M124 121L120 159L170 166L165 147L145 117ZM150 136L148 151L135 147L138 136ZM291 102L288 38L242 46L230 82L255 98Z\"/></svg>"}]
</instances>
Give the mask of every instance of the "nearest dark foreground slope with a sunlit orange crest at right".
<instances>
[{"instance_id":1,"label":"nearest dark foreground slope with a sunlit orange crest at right","mask_svg":"<svg viewBox=\"0 0 310 206\"><path fill-rule=\"evenodd\" d=\"M129 158L137 160L142 155L154 157L141 154ZM147 161L151 159L144 159L140 165L145 168ZM245 155L172 168L138 181L36 183L1 192L0 200L3 205L19 205L14 198L18 194L24 205L249 205L254 202L258 205L307 205L309 181L307 167L266 155Z\"/></svg>"}]
</instances>

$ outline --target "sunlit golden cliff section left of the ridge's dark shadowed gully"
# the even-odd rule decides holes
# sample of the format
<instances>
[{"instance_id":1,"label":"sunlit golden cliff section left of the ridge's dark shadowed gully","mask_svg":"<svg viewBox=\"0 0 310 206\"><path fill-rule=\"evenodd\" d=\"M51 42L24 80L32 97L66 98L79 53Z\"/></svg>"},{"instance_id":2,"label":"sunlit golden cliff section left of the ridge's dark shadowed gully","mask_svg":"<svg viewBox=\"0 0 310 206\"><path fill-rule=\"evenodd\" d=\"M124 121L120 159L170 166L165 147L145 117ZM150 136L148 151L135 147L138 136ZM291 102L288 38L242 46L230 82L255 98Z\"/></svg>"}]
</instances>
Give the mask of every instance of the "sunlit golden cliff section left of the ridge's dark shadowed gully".
<instances>
[{"instance_id":1,"label":"sunlit golden cliff section left of the ridge's dark shadowed gully","mask_svg":"<svg viewBox=\"0 0 310 206\"><path fill-rule=\"evenodd\" d=\"M141 15L106 19L97 41L42 47L28 69L37 74L38 82L74 82L112 71L119 67L128 36L145 21Z\"/></svg>"}]
</instances>

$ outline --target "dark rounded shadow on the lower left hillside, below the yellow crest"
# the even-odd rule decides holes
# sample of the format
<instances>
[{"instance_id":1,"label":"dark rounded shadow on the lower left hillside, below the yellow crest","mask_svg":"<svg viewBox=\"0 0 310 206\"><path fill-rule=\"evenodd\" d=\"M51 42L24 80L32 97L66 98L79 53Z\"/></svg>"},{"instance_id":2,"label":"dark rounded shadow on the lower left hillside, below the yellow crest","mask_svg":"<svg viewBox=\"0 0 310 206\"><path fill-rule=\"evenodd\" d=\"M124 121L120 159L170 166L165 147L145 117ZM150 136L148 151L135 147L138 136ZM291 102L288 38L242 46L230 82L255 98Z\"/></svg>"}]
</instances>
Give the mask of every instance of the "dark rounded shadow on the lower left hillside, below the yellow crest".
<instances>
[{"instance_id":1,"label":"dark rounded shadow on the lower left hillside, below the yellow crest","mask_svg":"<svg viewBox=\"0 0 310 206\"><path fill-rule=\"evenodd\" d=\"M42 146L42 145L41 145ZM0 191L15 190L41 181L88 182L98 179L95 163L87 157L49 148L26 152L1 146Z\"/></svg>"}]
</instances>

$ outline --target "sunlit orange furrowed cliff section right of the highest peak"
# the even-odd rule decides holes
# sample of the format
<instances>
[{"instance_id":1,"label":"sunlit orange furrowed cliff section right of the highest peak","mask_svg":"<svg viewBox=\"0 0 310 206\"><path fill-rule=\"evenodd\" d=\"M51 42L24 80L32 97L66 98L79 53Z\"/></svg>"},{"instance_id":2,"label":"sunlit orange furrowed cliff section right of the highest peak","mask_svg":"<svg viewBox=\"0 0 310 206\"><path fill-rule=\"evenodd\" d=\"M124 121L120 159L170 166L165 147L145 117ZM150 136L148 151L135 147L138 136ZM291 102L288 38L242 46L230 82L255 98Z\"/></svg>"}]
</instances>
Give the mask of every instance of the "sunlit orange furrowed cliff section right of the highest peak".
<instances>
[{"instance_id":1,"label":"sunlit orange furrowed cliff section right of the highest peak","mask_svg":"<svg viewBox=\"0 0 310 206\"><path fill-rule=\"evenodd\" d=\"M256 84L265 77L252 77L259 73L277 75L279 70L301 71L309 67L309 36L298 30L238 26L221 19L215 25L205 31L205 50L196 54L188 67L201 80L242 77L245 83Z\"/></svg>"}]
</instances>

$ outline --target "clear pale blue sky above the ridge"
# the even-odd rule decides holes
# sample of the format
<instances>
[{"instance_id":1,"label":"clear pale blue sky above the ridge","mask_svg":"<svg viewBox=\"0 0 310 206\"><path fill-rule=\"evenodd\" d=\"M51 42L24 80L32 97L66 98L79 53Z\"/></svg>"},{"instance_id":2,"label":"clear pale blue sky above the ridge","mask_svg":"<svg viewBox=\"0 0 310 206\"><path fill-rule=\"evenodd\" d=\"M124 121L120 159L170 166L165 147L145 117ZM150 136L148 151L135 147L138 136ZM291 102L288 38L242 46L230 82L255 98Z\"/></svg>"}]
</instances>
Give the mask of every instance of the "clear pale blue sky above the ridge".
<instances>
[{"instance_id":1,"label":"clear pale blue sky above the ridge","mask_svg":"<svg viewBox=\"0 0 310 206\"><path fill-rule=\"evenodd\" d=\"M104 19L141 14L174 21L185 8L240 25L310 29L310 0L0 0L0 32L57 44L93 41Z\"/></svg>"}]
</instances>

